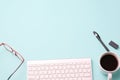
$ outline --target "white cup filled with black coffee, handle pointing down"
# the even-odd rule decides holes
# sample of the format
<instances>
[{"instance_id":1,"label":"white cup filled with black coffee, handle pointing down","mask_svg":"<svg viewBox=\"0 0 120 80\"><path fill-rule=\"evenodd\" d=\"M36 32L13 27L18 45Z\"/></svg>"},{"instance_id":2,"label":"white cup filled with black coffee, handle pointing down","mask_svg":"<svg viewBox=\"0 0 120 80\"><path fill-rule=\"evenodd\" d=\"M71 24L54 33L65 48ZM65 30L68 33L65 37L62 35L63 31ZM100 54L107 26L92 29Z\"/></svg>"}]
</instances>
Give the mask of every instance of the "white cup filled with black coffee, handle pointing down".
<instances>
[{"instance_id":1,"label":"white cup filled with black coffee, handle pointing down","mask_svg":"<svg viewBox=\"0 0 120 80\"><path fill-rule=\"evenodd\" d=\"M106 52L100 56L100 68L103 72L108 74L108 80L112 80L112 73L119 69L119 57L112 52Z\"/></svg>"}]
</instances>

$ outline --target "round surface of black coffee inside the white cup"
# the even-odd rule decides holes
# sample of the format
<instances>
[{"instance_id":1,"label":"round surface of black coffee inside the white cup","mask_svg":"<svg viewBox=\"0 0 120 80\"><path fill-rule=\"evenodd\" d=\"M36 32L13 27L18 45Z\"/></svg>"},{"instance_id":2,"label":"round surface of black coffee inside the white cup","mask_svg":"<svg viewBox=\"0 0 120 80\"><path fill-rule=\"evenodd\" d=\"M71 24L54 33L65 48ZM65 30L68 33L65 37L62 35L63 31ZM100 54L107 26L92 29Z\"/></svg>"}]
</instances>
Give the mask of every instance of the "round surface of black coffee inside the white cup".
<instances>
[{"instance_id":1,"label":"round surface of black coffee inside the white cup","mask_svg":"<svg viewBox=\"0 0 120 80\"><path fill-rule=\"evenodd\" d=\"M107 54L100 60L101 66L107 71L114 71L118 66L118 61L115 56Z\"/></svg>"}]
</instances>

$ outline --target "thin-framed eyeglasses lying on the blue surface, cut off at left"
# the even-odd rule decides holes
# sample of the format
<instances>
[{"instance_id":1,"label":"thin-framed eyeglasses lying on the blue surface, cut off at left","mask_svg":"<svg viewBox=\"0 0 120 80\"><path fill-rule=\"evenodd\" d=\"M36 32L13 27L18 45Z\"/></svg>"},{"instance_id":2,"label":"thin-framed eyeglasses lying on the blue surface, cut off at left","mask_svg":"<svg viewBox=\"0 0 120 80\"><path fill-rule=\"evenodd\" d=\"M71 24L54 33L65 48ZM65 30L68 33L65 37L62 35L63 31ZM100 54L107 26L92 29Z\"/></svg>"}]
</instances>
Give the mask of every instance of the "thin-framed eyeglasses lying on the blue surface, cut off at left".
<instances>
[{"instance_id":1,"label":"thin-framed eyeglasses lying on the blue surface, cut off at left","mask_svg":"<svg viewBox=\"0 0 120 80\"><path fill-rule=\"evenodd\" d=\"M17 52L15 51L12 47L10 47L8 44L6 43L0 43L0 46L3 46L7 51L9 51L10 53L14 54L18 59L21 60L21 63L18 65L18 67L10 74L10 76L7 78L7 80L9 80L12 75L20 68L20 66L23 64L24 62L24 58Z\"/></svg>"}]
</instances>

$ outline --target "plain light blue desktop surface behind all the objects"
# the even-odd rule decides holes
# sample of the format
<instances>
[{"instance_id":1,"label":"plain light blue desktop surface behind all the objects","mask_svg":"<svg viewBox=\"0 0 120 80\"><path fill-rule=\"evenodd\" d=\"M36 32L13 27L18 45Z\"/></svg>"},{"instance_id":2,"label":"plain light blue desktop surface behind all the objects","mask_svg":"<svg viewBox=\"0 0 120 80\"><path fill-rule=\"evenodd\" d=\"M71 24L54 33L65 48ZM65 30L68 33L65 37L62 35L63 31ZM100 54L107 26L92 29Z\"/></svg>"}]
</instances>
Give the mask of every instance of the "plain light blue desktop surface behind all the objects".
<instances>
[{"instance_id":1,"label":"plain light blue desktop surface behind all the objects","mask_svg":"<svg viewBox=\"0 0 120 80\"><path fill-rule=\"evenodd\" d=\"M26 80L28 60L92 59L93 79L107 80L98 65L106 52L92 31L97 31L109 49L113 40L120 45L119 0L0 0L0 42L6 42L25 58L11 80ZM19 64L0 48L0 80ZM113 80L120 79L120 71Z\"/></svg>"}]
</instances>

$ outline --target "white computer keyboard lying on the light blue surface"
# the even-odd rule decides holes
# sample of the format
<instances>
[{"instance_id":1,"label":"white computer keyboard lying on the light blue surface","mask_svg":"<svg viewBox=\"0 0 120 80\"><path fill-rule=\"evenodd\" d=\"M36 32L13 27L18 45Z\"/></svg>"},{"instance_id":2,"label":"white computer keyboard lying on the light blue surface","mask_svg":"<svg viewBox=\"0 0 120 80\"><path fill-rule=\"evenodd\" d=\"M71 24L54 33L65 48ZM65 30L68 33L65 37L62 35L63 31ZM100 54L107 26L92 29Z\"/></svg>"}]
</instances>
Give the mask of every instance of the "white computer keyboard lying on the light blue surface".
<instances>
[{"instance_id":1,"label":"white computer keyboard lying on the light blue surface","mask_svg":"<svg viewBox=\"0 0 120 80\"><path fill-rule=\"evenodd\" d=\"M27 80L92 80L91 59L28 61Z\"/></svg>"}]
</instances>

